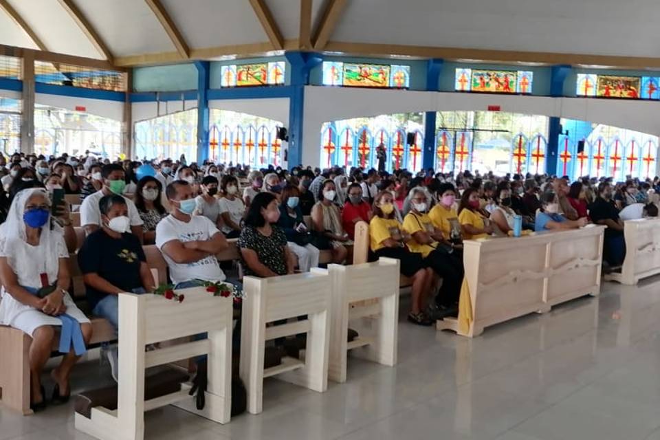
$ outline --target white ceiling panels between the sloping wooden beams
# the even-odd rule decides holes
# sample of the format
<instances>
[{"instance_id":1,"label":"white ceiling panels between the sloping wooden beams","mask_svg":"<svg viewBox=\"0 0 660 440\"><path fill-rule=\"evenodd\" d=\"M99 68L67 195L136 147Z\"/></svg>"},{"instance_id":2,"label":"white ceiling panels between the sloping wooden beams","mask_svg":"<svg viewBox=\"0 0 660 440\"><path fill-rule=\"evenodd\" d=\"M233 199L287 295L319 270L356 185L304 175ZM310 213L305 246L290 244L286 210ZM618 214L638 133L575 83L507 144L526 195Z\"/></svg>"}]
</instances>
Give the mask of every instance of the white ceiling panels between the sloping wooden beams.
<instances>
[{"instance_id":1,"label":"white ceiling panels between the sloping wooden beams","mask_svg":"<svg viewBox=\"0 0 660 440\"><path fill-rule=\"evenodd\" d=\"M8 0L52 52L103 58L58 0ZM265 0L285 39L300 0ZM660 56L658 0L349 0L331 41ZM175 52L144 0L74 0L115 57ZM162 0L192 49L268 41L248 0ZM312 23L325 0L313 0ZM0 12L0 43L35 48Z\"/></svg>"}]
</instances>

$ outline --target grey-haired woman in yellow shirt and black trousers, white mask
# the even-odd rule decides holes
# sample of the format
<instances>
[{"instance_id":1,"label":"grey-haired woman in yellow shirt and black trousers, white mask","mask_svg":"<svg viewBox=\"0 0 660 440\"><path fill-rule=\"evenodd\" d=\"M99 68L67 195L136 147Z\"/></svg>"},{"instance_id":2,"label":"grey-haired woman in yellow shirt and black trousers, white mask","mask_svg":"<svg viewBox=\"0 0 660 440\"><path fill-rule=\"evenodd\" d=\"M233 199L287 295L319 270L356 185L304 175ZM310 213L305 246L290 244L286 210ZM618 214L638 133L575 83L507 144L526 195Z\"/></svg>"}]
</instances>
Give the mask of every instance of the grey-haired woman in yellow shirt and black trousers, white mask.
<instances>
[{"instance_id":1,"label":"grey-haired woman in yellow shirt and black trousers, white mask","mask_svg":"<svg viewBox=\"0 0 660 440\"><path fill-rule=\"evenodd\" d=\"M430 305L427 311L434 318L440 319L458 311L456 304L463 281L463 261L454 252L454 245L446 241L441 230L434 226L426 214L427 207L426 192L412 190L410 212L404 219L404 233L410 234L410 252L421 254L425 265L442 278L440 291L435 297L437 307Z\"/></svg>"}]
</instances>

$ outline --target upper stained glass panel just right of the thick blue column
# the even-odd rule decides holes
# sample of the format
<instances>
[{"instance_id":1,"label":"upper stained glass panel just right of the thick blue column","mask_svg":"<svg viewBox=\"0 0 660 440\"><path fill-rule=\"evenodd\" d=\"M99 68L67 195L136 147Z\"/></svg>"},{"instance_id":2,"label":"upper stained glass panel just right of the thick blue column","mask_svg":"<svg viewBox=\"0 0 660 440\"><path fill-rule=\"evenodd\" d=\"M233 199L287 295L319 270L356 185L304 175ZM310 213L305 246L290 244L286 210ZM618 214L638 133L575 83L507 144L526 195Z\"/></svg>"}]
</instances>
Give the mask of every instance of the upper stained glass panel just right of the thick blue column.
<instances>
[{"instance_id":1,"label":"upper stained glass panel just right of the thick blue column","mask_svg":"<svg viewBox=\"0 0 660 440\"><path fill-rule=\"evenodd\" d=\"M410 66L323 62L323 85L407 89Z\"/></svg>"}]
</instances>

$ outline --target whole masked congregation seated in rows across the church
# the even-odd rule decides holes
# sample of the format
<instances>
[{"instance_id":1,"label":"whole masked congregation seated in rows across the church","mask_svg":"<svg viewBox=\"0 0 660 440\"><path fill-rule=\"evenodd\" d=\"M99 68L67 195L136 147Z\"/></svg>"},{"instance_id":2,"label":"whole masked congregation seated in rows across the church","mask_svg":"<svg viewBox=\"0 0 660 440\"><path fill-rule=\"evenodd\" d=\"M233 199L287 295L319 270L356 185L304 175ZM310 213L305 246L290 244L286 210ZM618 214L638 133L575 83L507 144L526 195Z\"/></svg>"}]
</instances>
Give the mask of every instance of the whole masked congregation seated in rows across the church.
<instances>
[{"instance_id":1,"label":"whole masked congregation seated in rows across the church","mask_svg":"<svg viewBox=\"0 0 660 440\"><path fill-rule=\"evenodd\" d=\"M91 155L22 153L12 155L0 176L0 325L31 339L28 399L34 411L69 399L72 369L99 343L111 374L120 380L116 341L125 318L122 294L159 292L182 302L181 289L230 286L236 292L232 362L237 364L241 346L248 343L241 335L253 336L241 329L246 299L242 303L240 294L257 289L253 278L275 283L296 273L320 274L319 267L333 264L395 260L401 287L410 289L408 321L430 326L459 316L468 269L464 241L511 236L518 220L523 235L594 223L606 227L604 263L608 271L617 270L626 258L624 221L657 217L655 192L660 190L657 177L625 183L586 177L569 184L567 178L546 175L465 171L454 176L433 170L412 175L309 166L289 172L272 166L251 170L212 162L188 166L170 159L110 162ZM67 198L58 197L61 193ZM78 203L69 203L71 195ZM338 270L333 267L329 272ZM72 283L74 272L82 282ZM243 289L245 280L252 287ZM300 281L300 289L306 288ZM283 353L311 350L314 344L301 334L306 325L325 322L315 321L315 313L310 309L274 320L286 325L287 319L298 319L298 327L292 327L298 333L271 331L277 337L261 367L283 362ZM95 318L109 325L102 338L94 335ZM206 340L206 334L192 339ZM47 393L42 372L53 347L64 356L44 381L50 382ZM199 375L204 362L200 357L190 362L190 373ZM340 377L345 380L345 371ZM256 386L246 385L248 394ZM250 408L261 410L261 404L252 401Z\"/></svg>"}]
</instances>

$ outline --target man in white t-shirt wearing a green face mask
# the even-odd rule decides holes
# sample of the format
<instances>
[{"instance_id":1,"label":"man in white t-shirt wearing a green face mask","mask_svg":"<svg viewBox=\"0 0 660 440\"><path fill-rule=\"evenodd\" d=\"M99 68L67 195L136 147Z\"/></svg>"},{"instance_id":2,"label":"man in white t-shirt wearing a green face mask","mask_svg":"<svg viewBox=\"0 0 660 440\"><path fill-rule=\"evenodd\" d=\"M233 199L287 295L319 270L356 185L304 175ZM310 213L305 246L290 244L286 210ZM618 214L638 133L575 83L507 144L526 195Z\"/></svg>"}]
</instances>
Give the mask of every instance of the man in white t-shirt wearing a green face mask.
<instances>
[{"instance_id":1,"label":"man in white t-shirt wearing a green face mask","mask_svg":"<svg viewBox=\"0 0 660 440\"><path fill-rule=\"evenodd\" d=\"M103 179L103 187L88 195L80 205L80 225L85 229L87 235L96 231L101 227L101 210L98 202L104 195L122 195L124 188L126 188L126 181L124 179L124 168L121 164L107 164L101 168L101 177ZM123 196L122 196L123 197ZM131 219L131 232L137 236L137 239L142 243L142 219L140 214L135 208L135 203L131 199L126 200L126 206L129 207L129 219Z\"/></svg>"}]
</instances>

